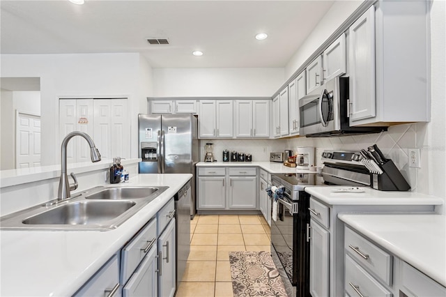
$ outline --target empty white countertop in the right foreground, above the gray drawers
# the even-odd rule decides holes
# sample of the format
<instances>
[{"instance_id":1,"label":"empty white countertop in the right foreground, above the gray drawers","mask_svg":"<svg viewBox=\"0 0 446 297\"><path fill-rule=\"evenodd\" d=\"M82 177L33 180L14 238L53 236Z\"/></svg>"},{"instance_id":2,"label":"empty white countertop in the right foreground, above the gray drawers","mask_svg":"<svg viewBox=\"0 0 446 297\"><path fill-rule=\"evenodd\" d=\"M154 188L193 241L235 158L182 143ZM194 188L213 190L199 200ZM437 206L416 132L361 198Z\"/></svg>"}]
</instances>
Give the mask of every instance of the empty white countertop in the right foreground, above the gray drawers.
<instances>
[{"instance_id":1,"label":"empty white countertop in the right foreground, above the gray drawers","mask_svg":"<svg viewBox=\"0 0 446 297\"><path fill-rule=\"evenodd\" d=\"M348 214L340 220L446 287L446 216Z\"/></svg>"}]
</instances>

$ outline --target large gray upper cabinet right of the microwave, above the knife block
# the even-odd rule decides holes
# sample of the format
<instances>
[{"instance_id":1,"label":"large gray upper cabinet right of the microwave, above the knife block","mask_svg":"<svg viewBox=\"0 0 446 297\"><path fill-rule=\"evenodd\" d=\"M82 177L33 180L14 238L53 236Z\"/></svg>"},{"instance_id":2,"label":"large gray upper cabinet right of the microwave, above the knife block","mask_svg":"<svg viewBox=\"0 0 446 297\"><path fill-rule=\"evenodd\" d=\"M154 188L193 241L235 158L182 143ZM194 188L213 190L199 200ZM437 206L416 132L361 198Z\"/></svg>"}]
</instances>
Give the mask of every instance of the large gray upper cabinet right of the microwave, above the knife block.
<instances>
[{"instance_id":1,"label":"large gray upper cabinet right of the microwave, above the knife block","mask_svg":"<svg viewBox=\"0 0 446 297\"><path fill-rule=\"evenodd\" d=\"M378 1L348 30L351 125L430 119L429 1Z\"/></svg>"}]
</instances>

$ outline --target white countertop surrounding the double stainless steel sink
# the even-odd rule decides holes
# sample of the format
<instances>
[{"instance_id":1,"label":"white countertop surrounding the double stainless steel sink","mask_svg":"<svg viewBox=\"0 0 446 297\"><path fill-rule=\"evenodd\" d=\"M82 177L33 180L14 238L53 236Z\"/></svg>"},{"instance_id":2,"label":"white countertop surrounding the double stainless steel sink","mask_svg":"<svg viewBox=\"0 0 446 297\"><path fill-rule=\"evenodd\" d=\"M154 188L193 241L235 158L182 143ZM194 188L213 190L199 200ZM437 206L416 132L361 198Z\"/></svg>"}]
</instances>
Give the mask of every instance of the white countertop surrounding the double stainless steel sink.
<instances>
[{"instance_id":1,"label":"white countertop surrounding the double stainless steel sink","mask_svg":"<svg viewBox=\"0 0 446 297\"><path fill-rule=\"evenodd\" d=\"M110 231L0 231L1 296L71 296L148 222L192 174L137 174L119 185L167 185Z\"/></svg>"}]
</instances>

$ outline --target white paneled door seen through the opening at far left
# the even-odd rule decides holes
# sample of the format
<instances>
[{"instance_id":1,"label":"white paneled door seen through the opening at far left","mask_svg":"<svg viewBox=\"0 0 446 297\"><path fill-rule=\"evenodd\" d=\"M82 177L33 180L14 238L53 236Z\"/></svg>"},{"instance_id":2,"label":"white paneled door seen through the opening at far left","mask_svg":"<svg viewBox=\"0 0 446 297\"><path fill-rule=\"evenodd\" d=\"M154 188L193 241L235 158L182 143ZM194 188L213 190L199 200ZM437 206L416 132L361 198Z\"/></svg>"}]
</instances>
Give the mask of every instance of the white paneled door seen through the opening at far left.
<instances>
[{"instance_id":1,"label":"white paneled door seen through the opening at far left","mask_svg":"<svg viewBox=\"0 0 446 297\"><path fill-rule=\"evenodd\" d=\"M40 166L40 116L16 112L15 168Z\"/></svg>"}]
</instances>

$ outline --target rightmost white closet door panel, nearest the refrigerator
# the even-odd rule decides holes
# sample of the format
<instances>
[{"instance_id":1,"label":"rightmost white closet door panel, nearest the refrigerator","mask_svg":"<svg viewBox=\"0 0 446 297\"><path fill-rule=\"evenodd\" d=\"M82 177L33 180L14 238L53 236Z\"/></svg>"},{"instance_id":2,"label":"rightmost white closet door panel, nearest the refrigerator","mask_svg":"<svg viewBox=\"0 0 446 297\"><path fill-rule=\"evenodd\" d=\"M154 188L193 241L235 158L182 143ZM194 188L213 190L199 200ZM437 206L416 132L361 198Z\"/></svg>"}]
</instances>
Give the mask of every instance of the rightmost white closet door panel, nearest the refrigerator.
<instances>
[{"instance_id":1,"label":"rightmost white closet door panel, nearest the refrigerator","mask_svg":"<svg viewBox=\"0 0 446 297\"><path fill-rule=\"evenodd\" d=\"M112 156L130 158L130 116L127 99L112 99Z\"/></svg>"}]
</instances>

